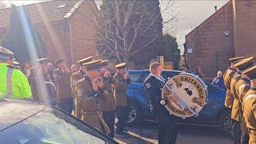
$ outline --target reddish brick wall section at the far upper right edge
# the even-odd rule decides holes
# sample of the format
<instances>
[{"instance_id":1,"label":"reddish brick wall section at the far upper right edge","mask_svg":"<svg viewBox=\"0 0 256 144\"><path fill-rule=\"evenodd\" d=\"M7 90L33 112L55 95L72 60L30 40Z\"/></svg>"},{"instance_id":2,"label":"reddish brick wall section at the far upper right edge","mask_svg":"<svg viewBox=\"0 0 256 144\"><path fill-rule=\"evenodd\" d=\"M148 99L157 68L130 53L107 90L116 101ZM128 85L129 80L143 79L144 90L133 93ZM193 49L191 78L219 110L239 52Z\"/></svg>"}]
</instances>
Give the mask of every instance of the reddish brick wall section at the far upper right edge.
<instances>
[{"instance_id":1,"label":"reddish brick wall section at the far upper right edge","mask_svg":"<svg viewBox=\"0 0 256 144\"><path fill-rule=\"evenodd\" d=\"M256 2L233 0L236 56L256 56Z\"/></svg>"}]
</instances>

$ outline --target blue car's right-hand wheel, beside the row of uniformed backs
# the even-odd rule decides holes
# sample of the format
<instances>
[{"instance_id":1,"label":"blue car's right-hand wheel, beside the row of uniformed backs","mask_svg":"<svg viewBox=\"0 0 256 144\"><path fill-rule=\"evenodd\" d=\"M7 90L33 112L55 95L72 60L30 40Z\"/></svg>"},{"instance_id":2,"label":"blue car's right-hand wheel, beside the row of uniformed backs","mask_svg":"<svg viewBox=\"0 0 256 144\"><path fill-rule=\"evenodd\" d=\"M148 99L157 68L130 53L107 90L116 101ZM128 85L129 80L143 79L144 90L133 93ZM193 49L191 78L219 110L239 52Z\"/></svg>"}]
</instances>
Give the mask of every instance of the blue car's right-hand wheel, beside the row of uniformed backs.
<instances>
[{"instance_id":1,"label":"blue car's right-hand wheel, beside the row of uniformed backs","mask_svg":"<svg viewBox=\"0 0 256 144\"><path fill-rule=\"evenodd\" d=\"M232 120L230 116L229 110L224 110L222 114L220 114L218 118L218 126L222 132L222 134L231 134L232 130Z\"/></svg>"}]
</instances>

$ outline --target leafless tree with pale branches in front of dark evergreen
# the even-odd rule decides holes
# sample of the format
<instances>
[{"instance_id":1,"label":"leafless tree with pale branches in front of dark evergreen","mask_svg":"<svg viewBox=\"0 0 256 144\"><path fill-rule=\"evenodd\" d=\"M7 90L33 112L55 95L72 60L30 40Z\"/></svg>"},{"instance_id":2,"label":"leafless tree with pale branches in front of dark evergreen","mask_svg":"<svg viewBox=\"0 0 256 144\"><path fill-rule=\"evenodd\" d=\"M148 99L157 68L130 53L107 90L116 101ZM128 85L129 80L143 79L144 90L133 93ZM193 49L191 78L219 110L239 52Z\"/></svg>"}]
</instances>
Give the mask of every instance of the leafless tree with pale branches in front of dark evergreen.
<instances>
[{"instance_id":1,"label":"leafless tree with pale branches in front of dark evergreen","mask_svg":"<svg viewBox=\"0 0 256 144\"><path fill-rule=\"evenodd\" d=\"M102 14L99 19L98 51L107 58L114 55L119 62L128 62L132 56L148 50L151 44L162 37L162 15L157 9L149 10L152 2L156 1L109 2L113 11ZM163 11L171 7L169 1ZM175 18L176 15L165 22L174 22Z\"/></svg>"}]
</instances>

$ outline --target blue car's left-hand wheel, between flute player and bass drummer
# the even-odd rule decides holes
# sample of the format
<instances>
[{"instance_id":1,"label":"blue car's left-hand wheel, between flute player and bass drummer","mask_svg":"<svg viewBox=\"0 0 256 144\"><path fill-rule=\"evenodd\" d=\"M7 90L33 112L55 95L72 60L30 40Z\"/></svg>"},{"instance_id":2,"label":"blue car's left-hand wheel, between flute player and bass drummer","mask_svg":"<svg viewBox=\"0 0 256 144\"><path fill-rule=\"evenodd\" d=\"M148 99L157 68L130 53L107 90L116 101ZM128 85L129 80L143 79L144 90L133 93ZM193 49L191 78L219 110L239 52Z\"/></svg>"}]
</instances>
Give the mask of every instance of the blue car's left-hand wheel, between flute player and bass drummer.
<instances>
[{"instance_id":1,"label":"blue car's left-hand wheel, between flute player and bass drummer","mask_svg":"<svg viewBox=\"0 0 256 144\"><path fill-rule=\"evenodd\" d=\"M136 106L135 103L130 103L128 105L128 119L126 122L131 125L138 122L139 114L140 112L139 112L138 106Z\"/></svg>"}]
</instances>

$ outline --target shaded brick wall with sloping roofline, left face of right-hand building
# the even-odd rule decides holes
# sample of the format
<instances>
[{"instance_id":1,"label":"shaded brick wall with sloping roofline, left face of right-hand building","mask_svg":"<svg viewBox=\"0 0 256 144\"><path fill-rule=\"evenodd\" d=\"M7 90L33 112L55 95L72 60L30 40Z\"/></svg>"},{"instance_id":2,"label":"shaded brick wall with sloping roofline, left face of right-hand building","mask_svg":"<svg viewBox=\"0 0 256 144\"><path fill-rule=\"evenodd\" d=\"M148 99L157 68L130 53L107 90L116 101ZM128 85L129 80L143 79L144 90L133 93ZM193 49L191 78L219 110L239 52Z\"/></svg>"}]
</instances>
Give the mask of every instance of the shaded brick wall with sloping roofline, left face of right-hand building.
<instances>
[{"instance_id":1,"label":"shaded brick wall with sloping roofline, left face of right-hand building","mask_svg":"<svg viewBox=\"0 0 256 144\"><path fill-rule=\"evenodd\" d=\"M205 78L214 78L218 70L225 71L234 57L232 2L228 2L200 26L186 35L186 47L192 53L186 55L190 69L202 68ZM224 35L229 31L228 37Z\"/></svg>"}]
</instances>

